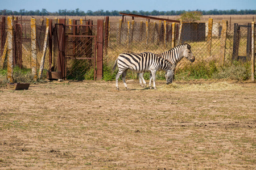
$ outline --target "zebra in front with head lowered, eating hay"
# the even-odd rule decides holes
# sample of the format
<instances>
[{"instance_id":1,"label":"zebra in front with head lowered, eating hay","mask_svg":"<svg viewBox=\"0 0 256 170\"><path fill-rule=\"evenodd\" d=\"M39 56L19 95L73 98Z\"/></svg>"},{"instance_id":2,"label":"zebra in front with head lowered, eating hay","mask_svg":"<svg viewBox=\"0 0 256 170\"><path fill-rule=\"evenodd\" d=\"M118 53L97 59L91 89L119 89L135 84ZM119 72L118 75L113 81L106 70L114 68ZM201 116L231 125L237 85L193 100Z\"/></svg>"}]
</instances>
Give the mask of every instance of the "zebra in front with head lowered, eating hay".
<instances>
[{"instance_id":1,"label":"zebra in front with head lowered, eating hay","mask_svg":"<svg viewBox=\"0 0 256 170\"><path fill-rule=\"evenodd\" d=\"M121 53L115 60L115 64L113 66L113 72L115 70L115 67L118 66L118 73L115 76L115 87L117 90L119 90L118 87L118 79L119 76L122 75L123 84L125 85L125 88L129 90L127 87L127 84L125 82L125 76L127 73L127 70L131 70L135 73L144 73L147 71L150 71L150 82L148 86L151 88L151 79L153 79L153 87L155 87L155 74L158 70L164 70L166 71L166 80L167 84L172 82L172 77L174 75L174 68L173 65L164 58L161 58L159 56L156 56L153 53L148 53L147 55L142 56L141 54L135 54L135 53Z\"/></svg>"}]
</instances>

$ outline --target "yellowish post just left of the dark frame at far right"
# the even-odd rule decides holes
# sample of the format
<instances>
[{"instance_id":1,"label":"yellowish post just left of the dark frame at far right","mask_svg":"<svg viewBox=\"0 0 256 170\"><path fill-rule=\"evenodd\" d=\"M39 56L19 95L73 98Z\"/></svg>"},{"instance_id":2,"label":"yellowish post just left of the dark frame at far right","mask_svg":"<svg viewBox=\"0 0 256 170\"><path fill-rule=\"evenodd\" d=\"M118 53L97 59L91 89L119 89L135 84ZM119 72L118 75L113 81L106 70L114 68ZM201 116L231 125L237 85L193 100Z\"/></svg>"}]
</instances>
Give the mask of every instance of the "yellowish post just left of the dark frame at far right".
<instances>
[{"instance_id":1,"label":"yellowish post just left of the dark frame at far right","mask_svg":"<svg viewBox=\"0 0 256 170\"><path fill-rule=\"evenodd\" d=\"M221 65L225 64L225 51L226 51L226 33L228 30L228 20L222 20L222 30L221 30L221 39L220 39L220 58Z\"/></svg>"}]
</instances>

